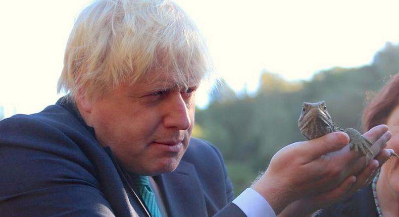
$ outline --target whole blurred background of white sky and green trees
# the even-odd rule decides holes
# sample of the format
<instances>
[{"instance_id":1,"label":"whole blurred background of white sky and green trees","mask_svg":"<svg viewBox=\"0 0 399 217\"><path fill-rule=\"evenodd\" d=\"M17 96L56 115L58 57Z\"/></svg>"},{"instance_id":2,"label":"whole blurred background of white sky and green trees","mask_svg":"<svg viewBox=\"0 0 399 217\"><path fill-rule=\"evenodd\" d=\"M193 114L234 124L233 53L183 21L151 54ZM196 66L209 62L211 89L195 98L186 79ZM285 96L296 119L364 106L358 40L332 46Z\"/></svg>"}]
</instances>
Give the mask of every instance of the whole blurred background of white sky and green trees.
<instances>
[{"instance_id":1,"label":"whole blurred background of white sky and green trees","mask_svg":"<svg viewBox=\"0 0 399 217\"><path fill-rule=\"evenodd\" d=\"M304 101L325 100L342 128L399 72L396 1L177 0L206 38L215 77L197 92L194 136L223 153L236 194L276 151L305 138ZM56 85L87 0L5 1L0 8L0 120L64 95Z\"/></svg>"}]
</instances>

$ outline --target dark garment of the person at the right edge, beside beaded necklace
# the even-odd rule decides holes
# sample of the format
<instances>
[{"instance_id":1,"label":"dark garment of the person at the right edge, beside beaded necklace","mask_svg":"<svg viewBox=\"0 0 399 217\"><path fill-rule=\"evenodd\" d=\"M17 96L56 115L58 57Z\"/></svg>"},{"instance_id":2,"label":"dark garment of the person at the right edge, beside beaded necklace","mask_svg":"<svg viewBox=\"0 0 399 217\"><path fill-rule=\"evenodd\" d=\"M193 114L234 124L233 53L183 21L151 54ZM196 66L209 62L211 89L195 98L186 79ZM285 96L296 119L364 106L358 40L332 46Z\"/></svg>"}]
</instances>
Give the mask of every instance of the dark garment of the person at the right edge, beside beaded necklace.
<instances>
[{"instance_id":1,"label":"dark garment of the person at the right edge, beside beaded necklace","mask_svg":"<svg viewBox=\"0 0 399 217\"><path fill-rule=\"evenodd\" d=\"M317 217L378 217L371 185L351 197L324 208Z\"/></svg>"}]
</instances>

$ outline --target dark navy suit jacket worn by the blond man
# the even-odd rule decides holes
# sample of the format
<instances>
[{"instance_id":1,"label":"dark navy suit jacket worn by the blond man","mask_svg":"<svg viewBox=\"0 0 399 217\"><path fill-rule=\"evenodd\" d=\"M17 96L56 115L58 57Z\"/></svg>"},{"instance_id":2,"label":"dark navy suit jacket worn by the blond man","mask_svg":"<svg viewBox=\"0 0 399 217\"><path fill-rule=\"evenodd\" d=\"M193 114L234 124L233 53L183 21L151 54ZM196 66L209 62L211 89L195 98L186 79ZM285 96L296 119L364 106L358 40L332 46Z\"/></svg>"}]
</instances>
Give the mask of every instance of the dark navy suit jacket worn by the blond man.
<instances>
[{"instance_id":1,"label":"dark navy suit jacket worn by the blond man","mask_svg":"<svg viewBox=\"0 0 399 217\"><path fill-rule=\"evenodd\" d=\"M245 216L219 151L191 139L179 166L154 177L169 216ZM224 208L223 208L224 207ZM1 216L147 216L108 147L60 100L0 122Z\"/></svg>"}]
</instances>

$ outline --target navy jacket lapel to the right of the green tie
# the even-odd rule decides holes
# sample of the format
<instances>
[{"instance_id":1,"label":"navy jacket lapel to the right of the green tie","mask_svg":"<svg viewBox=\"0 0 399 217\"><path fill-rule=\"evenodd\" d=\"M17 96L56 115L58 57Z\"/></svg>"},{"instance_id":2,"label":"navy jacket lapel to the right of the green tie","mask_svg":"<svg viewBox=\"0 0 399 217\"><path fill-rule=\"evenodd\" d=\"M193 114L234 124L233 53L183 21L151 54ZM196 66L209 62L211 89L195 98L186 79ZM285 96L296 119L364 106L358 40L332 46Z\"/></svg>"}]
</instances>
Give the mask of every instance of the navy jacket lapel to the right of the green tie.
<instances>
[{"instance_id":1,"label":"navy jacket lapel to the right of the green tie","mask_svg":"<svg viewBox=\"0 0 399 217\"><path fill-rule=\"evenodd\" d=\"M155 178L169 216L207 216L204 194L192 164L182 160L175 171Z\"/></svg>"}]
</instances>

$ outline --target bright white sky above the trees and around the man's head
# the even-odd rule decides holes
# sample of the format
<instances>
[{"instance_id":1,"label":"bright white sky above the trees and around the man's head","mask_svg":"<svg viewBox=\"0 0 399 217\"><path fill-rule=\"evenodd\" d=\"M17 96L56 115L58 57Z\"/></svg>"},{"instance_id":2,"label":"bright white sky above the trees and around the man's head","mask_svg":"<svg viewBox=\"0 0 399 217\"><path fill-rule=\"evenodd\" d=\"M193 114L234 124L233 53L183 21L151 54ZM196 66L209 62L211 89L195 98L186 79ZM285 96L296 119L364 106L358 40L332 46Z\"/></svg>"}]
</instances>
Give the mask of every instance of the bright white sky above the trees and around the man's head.
<instances>
[{"instance_id":1,"label":"bright white sky above the trees and around the man's head","mask_svg":"<svg viewBox=\"0 0 399 217\"><path fill-rule=\"evenodd\" d=\"M87 0L2 1L0 106L6 117L54 104L65 44ZM178 0L203 32L217 74L254 91L264 69L288 80L369 64L399 42L399 1ZM205 88L204 88L205 89ZM198 104L206 104L206 90Z\"/></svg>"}]
</instances>

